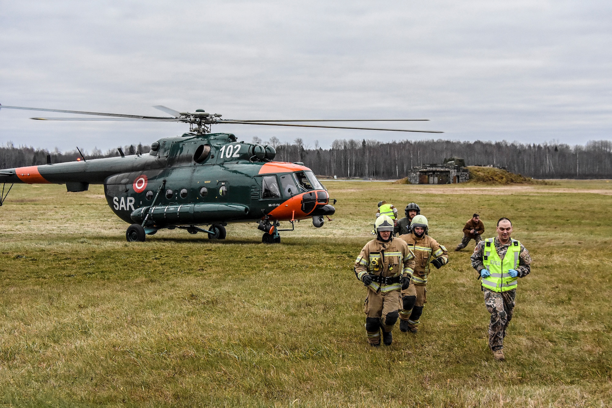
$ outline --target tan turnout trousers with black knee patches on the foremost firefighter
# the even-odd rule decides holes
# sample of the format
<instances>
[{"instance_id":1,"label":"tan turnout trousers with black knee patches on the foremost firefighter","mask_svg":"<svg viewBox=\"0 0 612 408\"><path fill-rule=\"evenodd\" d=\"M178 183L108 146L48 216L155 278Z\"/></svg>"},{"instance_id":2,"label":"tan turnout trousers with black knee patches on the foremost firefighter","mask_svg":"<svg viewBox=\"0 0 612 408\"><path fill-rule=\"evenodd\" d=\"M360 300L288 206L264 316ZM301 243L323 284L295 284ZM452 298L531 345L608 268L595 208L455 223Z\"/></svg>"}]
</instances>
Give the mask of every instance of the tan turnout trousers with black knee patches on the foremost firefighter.
<instances>
[{"instance_id":1,"label":"tan turnout trousers with black knee patches on the foremost firefighter","mask_svg":"<svg viewBox=\"0 0 612 408\"><path fill-rule=\"evenodd\" d=\"M368 297L365 298L365 332L368 343L380 344L381 328L389 333L393 330L401 309L401 290L376 293L368 287Z\"/></svg>"}]
</instances>

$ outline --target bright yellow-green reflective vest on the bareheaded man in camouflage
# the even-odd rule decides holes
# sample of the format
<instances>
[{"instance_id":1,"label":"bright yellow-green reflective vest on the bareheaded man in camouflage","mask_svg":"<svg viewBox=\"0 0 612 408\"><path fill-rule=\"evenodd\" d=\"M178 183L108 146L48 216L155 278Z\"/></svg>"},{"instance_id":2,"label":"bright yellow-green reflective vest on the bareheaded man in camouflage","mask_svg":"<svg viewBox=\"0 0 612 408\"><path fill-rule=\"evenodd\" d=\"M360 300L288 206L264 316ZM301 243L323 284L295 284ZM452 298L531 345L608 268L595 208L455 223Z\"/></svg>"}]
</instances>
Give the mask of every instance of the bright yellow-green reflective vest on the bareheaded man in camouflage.
<instances>
[{"instance_id":1,"label":"bright yellow-green reflective vest on the bareheaded man in camouflage","mask_svg":"<svg viewBox=\"0 0 612 408\"><path fill-rule=\"evenodd\" d=\"M504 260L499 259L499 255L495 250L494 238L485 240L485 251L482 255L482 263L491 274L488 278L482 278L482 285L494 292L507 292L508 290L517 289L518 278L512 278L508 273L509 270L516 270L518 266L518 255L521 253L521 243L517 240L512 240Z\"/></svg>"}]
</instances>

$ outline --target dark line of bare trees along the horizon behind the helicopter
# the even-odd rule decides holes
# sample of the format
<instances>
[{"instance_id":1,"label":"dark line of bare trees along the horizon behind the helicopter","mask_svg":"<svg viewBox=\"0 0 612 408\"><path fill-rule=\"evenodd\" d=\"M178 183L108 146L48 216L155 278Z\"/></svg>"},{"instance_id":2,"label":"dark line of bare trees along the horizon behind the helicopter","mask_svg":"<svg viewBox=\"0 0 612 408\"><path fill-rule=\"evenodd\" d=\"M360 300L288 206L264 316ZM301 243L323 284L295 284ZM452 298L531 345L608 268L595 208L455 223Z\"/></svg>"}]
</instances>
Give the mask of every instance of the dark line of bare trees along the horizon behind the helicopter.
<instances>
[{"instance_id":1,"label":"dark line of bare trees along the horizon behind the helicopter","mask_svg":"<svg viewBox=\"0 0 612 408\"><path fill-rule=\"evenodd\" d=\"M465 159L466 165L493 165L533 178L612 178L612 142L597 140L586 145L563 143L522 144L508 142L453 142L450 140L403 140L381 143L376 140L334 140L323 149L315 142L308 146L297 138L280 143L276 137L265 142L277 151L276 161L303 162L317 175L378 179L403 178L413 167L442 163L450 157ZM148 153L150 146L127 145L124 154ZM118 149L102 152L82 151L86 159L119 156ZM0 168L40 165L47 162L75 161L81 154L75 150L60 152L14 146L0 146Z\"/></svg>"}]
</instances>

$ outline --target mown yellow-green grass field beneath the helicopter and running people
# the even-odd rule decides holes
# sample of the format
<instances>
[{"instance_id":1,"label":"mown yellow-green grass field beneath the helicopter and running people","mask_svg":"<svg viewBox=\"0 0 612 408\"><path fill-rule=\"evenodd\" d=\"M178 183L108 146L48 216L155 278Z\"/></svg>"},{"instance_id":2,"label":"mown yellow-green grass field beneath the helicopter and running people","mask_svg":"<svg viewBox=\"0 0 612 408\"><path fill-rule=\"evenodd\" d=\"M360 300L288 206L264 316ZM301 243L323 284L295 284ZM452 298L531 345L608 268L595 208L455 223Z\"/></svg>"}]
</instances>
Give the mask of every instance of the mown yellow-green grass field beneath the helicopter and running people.
<instances>
[{"instance_id":1,"label":"mown yellow-green grass field beneath the helicopter and running people","mask_svg":"<svg viewBox=\"0 0 612 408\"><path fill-rule=\"evenodd\" d=\"M15 186L0 208L4 406L612 406L612 183L409 186L327 181L335 221L261 244L161 231L125 241L102 187ZM376 202L417 202L450 264L434 270L422 330L367 346L353 261ZM512 219L532 255L506 337L487 348L474 245ZM473 242L473 241L472 241Z\"/></svg>"}]
</instances>

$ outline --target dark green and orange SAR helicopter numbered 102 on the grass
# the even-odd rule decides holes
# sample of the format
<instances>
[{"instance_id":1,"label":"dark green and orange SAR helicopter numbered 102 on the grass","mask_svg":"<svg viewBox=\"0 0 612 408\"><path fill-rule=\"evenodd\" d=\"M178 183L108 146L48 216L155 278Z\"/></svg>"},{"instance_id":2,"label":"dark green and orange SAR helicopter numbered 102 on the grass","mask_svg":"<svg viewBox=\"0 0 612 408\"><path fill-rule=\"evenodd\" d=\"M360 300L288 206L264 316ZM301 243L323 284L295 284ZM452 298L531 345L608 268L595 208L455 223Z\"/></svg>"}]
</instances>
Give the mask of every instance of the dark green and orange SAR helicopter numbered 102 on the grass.
<instances>
[{"instance_id":1,"label":"dark green and orange SAR helicopter numbered 102 on the grass","mask_svg":"<svg viewBox=\"0 0 612 408\"><path fill-rule=\"evenodd\" d=\"M293 231L294 222L311 218L323 227L335 213L337 200L310 168L301 162L276 162L273 146L238 142L232 133L213 133L218 124L318 127L329 129L387 130L442 133L438 130L386 129L329 126L326 122L427 121L428 119L221 119L222 115L196 109L180 112L157 105L172 116L124 115L91 111L59 110L0 105L0 109L22 109L99 117L31 118L61 121L158 121L189 125L180 136L164 137L151 144L149 153L102 159L81 157L75 162L51 163L0 170L3 184L0 206L15 183L65 184L69 192L82 192L89 184L103 184L111 210L129 227L127 241L143 242L161 229L184 229L207 233L223 240L232 223L256 222L263 243L280 243L280 232ZM315 124L316 123L316 124ZM10 183L6 194L4 186ZM291 229L279 229L288 221Z\"/></svg>"}]
</instances>

